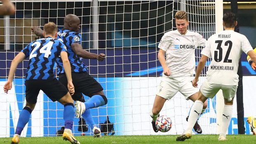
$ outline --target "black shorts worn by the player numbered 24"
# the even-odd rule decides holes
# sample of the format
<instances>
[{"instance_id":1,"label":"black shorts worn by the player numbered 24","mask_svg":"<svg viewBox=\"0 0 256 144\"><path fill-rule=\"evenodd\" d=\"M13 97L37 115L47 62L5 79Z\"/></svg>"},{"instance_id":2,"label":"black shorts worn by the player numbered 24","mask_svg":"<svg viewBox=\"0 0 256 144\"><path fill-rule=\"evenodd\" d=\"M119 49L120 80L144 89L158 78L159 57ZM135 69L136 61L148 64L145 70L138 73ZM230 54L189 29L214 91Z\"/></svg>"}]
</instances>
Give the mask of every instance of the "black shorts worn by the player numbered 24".
<instances>
[{"instance_id":1,"label":"black shorts worn by the player numbered 24","mask_svg":"<svg viewBox=\"0 0 256 144\"><path fill-rule=\"evenodd\" d=\"M53 102L68 93L67 88L55 78L53 80L26 80L26 101L36 104L39 91L42 90Z\"/></svg>"}]
</instances>

